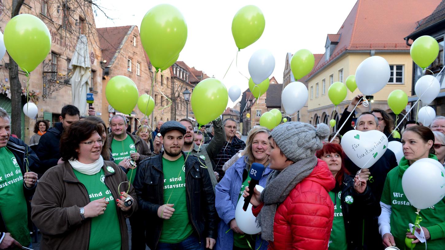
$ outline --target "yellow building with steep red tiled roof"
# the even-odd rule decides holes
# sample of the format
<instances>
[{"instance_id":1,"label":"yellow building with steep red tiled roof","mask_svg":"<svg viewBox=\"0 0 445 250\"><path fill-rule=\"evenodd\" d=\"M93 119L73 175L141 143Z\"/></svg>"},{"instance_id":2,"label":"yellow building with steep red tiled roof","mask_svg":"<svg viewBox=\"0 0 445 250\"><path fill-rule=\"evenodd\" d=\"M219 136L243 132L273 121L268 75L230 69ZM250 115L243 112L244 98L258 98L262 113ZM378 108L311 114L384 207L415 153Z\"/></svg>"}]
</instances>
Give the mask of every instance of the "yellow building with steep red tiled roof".
<instances>
[{"instance_id":1,"label":"yellow building with steep red tiled roof","mask_svg":"<svg viewBox=\"0 0 445 250\"><path fill-rule=\"evenodd\" d=\"M401 89L411 96L412 91L413 60L404 37L439 3L440 0L426 1L418 8L416 0L358 0L337 34L328 34L324 55L307 75L309 123L329 124L330 119L338 122L339 113L341 115L360 91L358 88L353 93L348 90L346 99L334 111L328 97L329 86L334 82L345 83L346 78L355 75L359 64L370 56L381 56L387 60L391 77L388 84L374 94L373 103L369 107L357 107L356 114L380 108L395 118L387 103L389 93ZM416 11L407 12L413 9Z\"/></svg>"}]
</instances>

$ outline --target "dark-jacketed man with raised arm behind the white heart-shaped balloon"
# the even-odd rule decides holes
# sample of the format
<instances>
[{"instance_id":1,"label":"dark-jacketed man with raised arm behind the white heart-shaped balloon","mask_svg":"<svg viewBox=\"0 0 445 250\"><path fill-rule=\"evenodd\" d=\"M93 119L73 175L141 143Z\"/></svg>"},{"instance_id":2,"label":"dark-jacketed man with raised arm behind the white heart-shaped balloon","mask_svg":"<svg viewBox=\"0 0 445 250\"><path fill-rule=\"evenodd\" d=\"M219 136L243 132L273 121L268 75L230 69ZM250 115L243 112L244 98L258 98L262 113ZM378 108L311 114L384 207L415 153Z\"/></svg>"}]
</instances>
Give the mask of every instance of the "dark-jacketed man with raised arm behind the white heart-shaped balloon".
<instances>
[{"instance_id":1,"label":"dark-jacketed man with raised arm behind the white heart-shaped balloon","mask_svg":"<svg viewBox=\"0 0 445 250\"><path fill-rule=\"evenodd\" d=\"M344 135L347 131L353 130L351 123L352 118L355 117L355 114L352 114L348 120L346 118L349 114L351 114L352 109L359 103L360 99L363 95L357 95L352 99L349 106L344 110L341 115L339 121L339 127L344 124L343 129L340 131L340 135ZM360 101L359 105L362 102ZM356 130L366 132L371 130L379 130L379 119L377 119L376 115L371 112L363 112L356 121ZM385 183L386 175L388 172L392 170L394 167L397 167L397 160L394 153L387 149L382 157L374 163L369 169L361 169L357 167L356 164L352 163L352 161L347 158L345 159L345 167L349 172L355 174L360 171L359 176L362 179L368 181L368 186L371 188L374 197L376 198L376 202L372 204L373 210L376 210L376 214L373 216L364 215L364 232L362 232L364 237L364 245L367 247L366 249L380 249L382 248L381 236L378 233L378 216L380 215L380 197L383 192L383 186ZM359 218L358 218L359 219Z\"/></svg>"}]
</instances>

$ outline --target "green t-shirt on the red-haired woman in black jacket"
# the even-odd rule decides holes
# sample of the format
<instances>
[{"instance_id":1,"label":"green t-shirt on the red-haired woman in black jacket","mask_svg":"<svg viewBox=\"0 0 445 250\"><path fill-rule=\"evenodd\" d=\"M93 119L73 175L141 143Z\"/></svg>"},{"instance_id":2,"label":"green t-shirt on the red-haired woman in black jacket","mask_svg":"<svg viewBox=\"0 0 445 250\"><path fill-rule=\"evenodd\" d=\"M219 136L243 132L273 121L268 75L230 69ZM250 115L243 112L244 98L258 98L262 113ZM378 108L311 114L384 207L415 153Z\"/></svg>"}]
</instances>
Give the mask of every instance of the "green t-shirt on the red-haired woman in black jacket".
<instances>
[{"instance_id":1,"label":"green t-shirt on the red-haired woman in black jacket","mask_svg":"<svg viewBox=\"0 0 445 250\"><path fill-rule=\"evenodd\" d=\"M346 230L344 228L343 211L341 207L341 191L329 191L332 203L334 203L334 221L332 223L331 236L329 237L329 250L346 250Z\"/></svg>"}]
</instances>

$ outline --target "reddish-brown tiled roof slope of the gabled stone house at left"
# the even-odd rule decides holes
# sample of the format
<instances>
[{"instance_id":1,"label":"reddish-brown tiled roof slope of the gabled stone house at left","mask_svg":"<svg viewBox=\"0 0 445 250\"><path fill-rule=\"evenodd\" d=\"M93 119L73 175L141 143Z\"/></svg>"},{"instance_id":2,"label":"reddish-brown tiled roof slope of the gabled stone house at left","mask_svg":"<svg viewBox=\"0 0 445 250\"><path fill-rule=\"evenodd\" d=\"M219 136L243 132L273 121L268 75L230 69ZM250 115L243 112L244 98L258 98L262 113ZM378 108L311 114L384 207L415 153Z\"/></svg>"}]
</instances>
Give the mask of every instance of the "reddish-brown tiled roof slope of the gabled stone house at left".
<instances>
[{"instance_id":1,"label":"reddish-brown tiled roof slope of the gabled stone house at left","mask_svg":"<svg viewBox=\"0 0 445 250\"><path fill-rule=\"evenodd\" d=\"M103 60L107 60L105 67L111 67L120 52L124 37L133 30L135 26L120 26L120 27L106 27L98 28L97 34L99 36L99 43L102 50Z\"/></svg>"}]
</instances>

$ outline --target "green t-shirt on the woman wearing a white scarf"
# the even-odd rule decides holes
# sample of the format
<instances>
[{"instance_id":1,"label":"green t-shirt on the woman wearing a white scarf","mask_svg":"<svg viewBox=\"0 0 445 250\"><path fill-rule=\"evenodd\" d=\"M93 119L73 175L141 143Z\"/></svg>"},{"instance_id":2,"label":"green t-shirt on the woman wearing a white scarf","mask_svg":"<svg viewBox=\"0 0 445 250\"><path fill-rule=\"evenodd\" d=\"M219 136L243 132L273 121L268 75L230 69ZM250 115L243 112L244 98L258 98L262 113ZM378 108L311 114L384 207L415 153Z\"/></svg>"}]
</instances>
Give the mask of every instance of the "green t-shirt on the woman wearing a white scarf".
<instances>
[{"instance_id":1,"label":"green t-shirt on the woman wearing a white scarf","mask_svg":"<svg viewBox=\"0 0 445 250\"><path fill-rule=\"evenodd\" d=\"M117 205L107 185L105 185L104 170L95 175L85 175L73 169L77 179L84 184L89 194L89 201L105 197L109 202L104 214L91 218L91 233L89 235L89 250L120 250L121 226L117 218ZM127 232L125 232L126 234Z\"/></svg>"}]
</instances>

